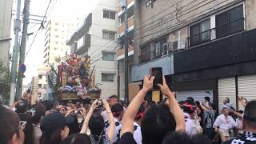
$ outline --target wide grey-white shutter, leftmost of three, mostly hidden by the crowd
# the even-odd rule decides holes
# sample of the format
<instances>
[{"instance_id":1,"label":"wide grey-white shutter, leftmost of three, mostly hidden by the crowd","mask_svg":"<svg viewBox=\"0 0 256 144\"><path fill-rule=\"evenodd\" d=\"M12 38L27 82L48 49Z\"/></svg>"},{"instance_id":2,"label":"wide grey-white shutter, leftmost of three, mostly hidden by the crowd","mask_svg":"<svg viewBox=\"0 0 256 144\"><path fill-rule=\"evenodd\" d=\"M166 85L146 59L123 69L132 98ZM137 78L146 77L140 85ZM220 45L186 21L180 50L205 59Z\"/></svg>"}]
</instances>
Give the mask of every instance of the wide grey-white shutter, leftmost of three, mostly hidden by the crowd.
<instances>
[{"instance_id":1,"label":"wide grey-white shutter, leftmost of three, mostly hidden by the crowd","mask_svg":"<svg viewBox=\"0 0 256 144\"><path fill-rule=\"evenodd\" d=\"M213 101L213 90L191 90L176 92L177 101L185 101L186 98L192 97L194 101L202 102L206 96L210 97L210 102Z\"/></svg>"}]
</instances>

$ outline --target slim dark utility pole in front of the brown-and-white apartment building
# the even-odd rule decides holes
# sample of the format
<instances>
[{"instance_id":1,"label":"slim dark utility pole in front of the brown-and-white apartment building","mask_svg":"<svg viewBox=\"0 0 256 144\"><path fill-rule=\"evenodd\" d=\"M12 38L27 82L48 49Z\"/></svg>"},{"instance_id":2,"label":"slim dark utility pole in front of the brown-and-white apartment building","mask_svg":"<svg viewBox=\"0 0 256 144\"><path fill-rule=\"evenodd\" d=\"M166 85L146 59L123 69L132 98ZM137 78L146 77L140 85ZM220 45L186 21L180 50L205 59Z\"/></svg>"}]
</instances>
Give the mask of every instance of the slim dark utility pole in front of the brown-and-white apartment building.
<instances>
[{"instance_id":1,"label":"slim dark utility pole in front of the brown-and-white apartment building","mask_svg":"<svg viewBox=\"0 0 256 144\"><path fill-rule=\"evenodd\" d=\"M125 16L125 102L129 102L129 85L128 85L128 11L127 0L122 0L122 10Z\"/></svg>"}]
</instances>

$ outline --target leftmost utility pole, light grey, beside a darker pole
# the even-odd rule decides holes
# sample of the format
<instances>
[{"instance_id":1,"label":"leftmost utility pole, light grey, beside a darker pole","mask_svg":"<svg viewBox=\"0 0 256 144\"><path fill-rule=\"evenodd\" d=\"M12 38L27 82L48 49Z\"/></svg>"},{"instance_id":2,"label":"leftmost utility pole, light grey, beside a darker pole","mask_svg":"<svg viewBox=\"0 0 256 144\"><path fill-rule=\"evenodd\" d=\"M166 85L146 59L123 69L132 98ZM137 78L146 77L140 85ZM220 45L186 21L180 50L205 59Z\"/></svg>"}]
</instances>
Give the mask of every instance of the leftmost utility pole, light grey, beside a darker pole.
<instances>
[{"instance_id":1,"label":"leftmost utility pole, light grey, beside a darker pole","mask_svg":"<svg viewBox=\"0 0 256 144\"><path fill-rule=\"evenodd\" d=\"M14 48L13 48L13 55L11 59L11 83L10 83L10 105L14 102L14 93L16 87L16 76L17 76L17 66L18 66L18 50L19 50L19 42L18 42L18 33L20 31L21 20L20 20L20 13L21 13L21 0L17 1L17 18L15 19L14 24Z\"/></svg>"}]
</instances>

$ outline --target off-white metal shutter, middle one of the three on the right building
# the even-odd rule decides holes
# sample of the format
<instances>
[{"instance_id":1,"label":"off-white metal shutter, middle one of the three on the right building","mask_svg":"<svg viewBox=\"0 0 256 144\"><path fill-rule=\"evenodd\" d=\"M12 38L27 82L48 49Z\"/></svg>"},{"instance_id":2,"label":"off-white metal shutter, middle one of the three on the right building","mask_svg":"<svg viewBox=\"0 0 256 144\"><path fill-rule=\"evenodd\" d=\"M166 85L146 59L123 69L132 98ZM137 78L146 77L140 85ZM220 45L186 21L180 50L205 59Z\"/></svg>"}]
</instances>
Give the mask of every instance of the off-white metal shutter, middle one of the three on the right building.
<instances>
[{"instance_id":1,"label":"off-white metal shutter, middle one of the three on the right building","mask_svg":"<svg viewBox=\"0 0 256 144\"><path fill-rule=\"evenodd\" d=\"M218 111L221 113L223 107L223 99L230 98L230 103L236 106L236 89L235 78L218 79Z\"/></svg>"}]
</instances>

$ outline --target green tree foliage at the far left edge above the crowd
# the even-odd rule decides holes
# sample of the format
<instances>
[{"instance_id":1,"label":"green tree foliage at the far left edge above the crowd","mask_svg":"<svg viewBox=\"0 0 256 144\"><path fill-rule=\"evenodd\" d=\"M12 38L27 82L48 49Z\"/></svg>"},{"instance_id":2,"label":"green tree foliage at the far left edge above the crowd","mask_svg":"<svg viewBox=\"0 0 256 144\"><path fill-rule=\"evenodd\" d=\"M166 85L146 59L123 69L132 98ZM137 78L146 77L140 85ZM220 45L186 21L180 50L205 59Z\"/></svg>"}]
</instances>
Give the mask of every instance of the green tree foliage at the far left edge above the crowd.
<instances>
[{"instance_id":1,"label":"green tree foliage at the far left edge above the crowd","mask_svg":"<svg viewBox=\"0 0 256 144\"><path fill-rule=\"evenodd\" d=\"M10 100L10 70L8 65L0 61L0 95L2 95L3 103Z\"/></svg>"}]
</instances>

